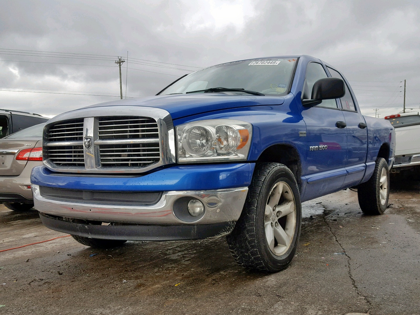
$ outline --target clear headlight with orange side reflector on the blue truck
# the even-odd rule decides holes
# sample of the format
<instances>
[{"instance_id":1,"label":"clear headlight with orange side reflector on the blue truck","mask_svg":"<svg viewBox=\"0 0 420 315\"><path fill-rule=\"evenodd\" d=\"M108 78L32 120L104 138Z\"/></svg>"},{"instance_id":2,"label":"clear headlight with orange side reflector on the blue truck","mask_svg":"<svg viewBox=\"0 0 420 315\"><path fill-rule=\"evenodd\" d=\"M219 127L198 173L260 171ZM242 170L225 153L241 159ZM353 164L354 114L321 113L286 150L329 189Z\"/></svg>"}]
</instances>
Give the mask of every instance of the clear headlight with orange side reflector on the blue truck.
<instances>
[{"instance_id":1,"label":"clear headlight with orange side reflector on the blue truck","mask_svg":"<svg viewBox=\"0 0 420 315\"><path fill-rule=\"evenodd\" d=\"M178 162L247 160L250 123L232 119L194 121L176 128Z\"/></svg>"}]
</instances>

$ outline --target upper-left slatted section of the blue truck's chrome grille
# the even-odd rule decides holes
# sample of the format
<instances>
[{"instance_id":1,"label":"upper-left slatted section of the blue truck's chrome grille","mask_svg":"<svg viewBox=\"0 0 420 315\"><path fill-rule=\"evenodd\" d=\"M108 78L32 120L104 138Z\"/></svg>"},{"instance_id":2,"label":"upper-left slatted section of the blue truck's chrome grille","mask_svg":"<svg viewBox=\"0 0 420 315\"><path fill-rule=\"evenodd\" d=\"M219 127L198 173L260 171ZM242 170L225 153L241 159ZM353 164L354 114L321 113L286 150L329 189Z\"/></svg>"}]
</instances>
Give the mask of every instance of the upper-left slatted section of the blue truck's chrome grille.
<instances>
[{"instance_id":1,"label":"upper-left slatted section of the blue truck's chrome grille","mask_svg":"<svg viewBox=\"0 0 420 315\"><path fill-rule=\"evenodd\" d=\"M47 130L47 141L82 141L83 118L60 121Z\"/></svg>"}]
</instances>

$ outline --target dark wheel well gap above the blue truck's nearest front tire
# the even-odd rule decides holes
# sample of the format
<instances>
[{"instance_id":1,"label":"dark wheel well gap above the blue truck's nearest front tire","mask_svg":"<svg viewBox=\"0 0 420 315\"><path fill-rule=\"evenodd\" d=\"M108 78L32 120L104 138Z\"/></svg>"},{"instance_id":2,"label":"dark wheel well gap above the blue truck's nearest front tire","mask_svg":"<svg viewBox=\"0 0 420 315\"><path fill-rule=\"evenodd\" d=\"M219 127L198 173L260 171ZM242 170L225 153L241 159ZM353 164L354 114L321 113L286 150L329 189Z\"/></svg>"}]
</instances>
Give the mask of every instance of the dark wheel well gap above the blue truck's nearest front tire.
<instances>
[{"instance_id":1,"label":"dark wheel well gap above the blue truck's nearest front tire","mask_svg":"<svg viewBox=\"0 0 420 315\"><path fill-rule=\"evenodd\" d=\"M299 153L296 148L287 144L276 144L265 149L257 163L274 162L286 165L296 178L299 188L301 188L300 175L302 173Z\"/></svg>"}]
</instances>

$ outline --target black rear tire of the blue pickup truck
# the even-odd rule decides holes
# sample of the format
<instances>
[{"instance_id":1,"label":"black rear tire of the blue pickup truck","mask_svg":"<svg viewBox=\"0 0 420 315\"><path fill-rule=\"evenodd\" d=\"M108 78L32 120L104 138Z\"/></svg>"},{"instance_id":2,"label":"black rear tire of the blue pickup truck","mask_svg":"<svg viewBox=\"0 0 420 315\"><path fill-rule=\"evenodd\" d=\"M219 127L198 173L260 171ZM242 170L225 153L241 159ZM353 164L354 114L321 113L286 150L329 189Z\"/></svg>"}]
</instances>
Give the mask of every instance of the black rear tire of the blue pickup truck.
<instances>
[{"instance_id":1,"label":"black rear tire of the blue pickup truck","mask_svg":"<svg viewBox=\"0 0 420 315\"><path fill-rule=\"evenodd\" d=\"M381 184L381 174L386 174L386 182ZM385 186L386 184L386 186ZM381 192L385 193L385 197ZM381 215L388 206L389 198L389 171L388 164L384 158L376 160L375 170L370 179L357 186L357 199L359 199L360 209L368 215Z\"/></svg>"}]
</instances>

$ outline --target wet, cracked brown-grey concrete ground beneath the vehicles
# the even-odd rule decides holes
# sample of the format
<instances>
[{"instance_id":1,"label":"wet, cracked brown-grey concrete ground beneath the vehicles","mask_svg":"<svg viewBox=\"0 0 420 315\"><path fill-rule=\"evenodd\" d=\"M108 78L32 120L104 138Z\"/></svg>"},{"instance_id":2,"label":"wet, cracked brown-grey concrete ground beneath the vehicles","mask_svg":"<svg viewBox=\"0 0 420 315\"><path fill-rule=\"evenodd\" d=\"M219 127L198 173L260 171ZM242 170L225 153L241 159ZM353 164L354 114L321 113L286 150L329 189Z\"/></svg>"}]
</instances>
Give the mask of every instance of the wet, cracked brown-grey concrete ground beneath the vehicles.
<instances>
[{"instance_id":1,"label":"wet, cracked brown-grey concrete ground beneath the vehicles","mask_svg":"<svg viewBox=\"0 0 420 315\"><path fill-rule=\"evenodd\" d=\"M276 274L236 265L224 238L98 250L64 237L0 252L0 315L420 314L420 186L391 184L381 216L350 190L304 203L297 255ZM3 205L0 226L0 250L65 235Z\"/></svg>"}]
</instances>

